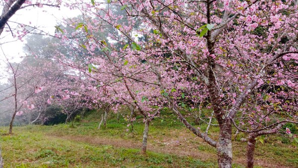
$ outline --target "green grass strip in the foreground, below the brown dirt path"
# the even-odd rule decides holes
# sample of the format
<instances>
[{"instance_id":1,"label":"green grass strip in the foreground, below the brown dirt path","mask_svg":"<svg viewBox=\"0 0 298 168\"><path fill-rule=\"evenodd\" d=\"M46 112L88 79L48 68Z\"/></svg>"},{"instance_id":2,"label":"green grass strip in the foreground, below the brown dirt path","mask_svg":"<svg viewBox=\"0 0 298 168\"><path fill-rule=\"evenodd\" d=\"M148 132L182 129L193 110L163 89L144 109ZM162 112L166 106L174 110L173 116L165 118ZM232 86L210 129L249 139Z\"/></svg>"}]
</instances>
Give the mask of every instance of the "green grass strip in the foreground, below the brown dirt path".
<instances>
[{"instance_id":1,"label":"green grass strip in the foreground, below the brown dirt path","mask_svg":"<svg viewBox=\"0 0 298 168\"><path fill-rule=\"evenodd\" d=\"M2 135L5 168L215 167L215 163L202 162L192 157L154 152L141 155L139 149L74 142L46 136L42 132L51 128L54 127L18 127L13 135Z\"/></svg>"}]
</instances>

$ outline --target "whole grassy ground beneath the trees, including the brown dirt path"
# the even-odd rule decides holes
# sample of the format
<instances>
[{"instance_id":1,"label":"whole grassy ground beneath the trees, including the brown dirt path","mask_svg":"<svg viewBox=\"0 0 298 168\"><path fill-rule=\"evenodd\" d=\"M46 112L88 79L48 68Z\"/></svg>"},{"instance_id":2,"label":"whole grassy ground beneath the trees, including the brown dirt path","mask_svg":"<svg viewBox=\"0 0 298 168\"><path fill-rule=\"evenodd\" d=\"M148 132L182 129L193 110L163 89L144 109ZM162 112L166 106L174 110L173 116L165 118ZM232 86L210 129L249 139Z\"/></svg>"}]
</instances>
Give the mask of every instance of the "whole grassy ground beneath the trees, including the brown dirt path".
<instances>
[{"instance_id":1,"label":"whole grassy ground beneath the trees, including the brown dirt path","mask_svg":"<svg viewBox=\"0 0 298 168\"><path fill-rule=\"evenodd\" d=\"M215 148L186 130L174 116L151 122L148 154L141 155L143 123L138 119L133 131L126 131L127 121L115 115L107 128L98 130L99 115L93 113L81 122L54 126L30 125L0 127L0 144L5 168L210 168L217 167ZM201 125L204 130L206 125ZM216 138L217 127L210 134ZM245 165L245 143L234 138L233 167ZM257 143L256 167L298 167L298 145L281 137L265 138Z\"/></svg>"}]
</instances>

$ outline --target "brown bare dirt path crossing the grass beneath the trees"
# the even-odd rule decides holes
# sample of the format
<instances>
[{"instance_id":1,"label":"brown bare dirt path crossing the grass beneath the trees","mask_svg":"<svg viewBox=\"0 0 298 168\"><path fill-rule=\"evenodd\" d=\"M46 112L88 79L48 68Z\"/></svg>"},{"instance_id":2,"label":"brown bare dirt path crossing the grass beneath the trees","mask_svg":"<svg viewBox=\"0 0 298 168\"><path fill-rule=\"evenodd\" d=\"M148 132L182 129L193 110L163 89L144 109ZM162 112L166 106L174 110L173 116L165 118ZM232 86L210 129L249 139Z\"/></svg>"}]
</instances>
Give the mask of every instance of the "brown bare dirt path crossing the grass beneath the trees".
<instances>
[{"instance_id":1,"label":"brown bare dirt path crossing the grass beneath the trees","mask_svg":"<svg viewBox=\"0 0 298 168\"><path fill-rule=\"evenodd\" d=\"M182 133L183 134L183 133ZM105 137L85 137L85 136L72 136L72 135L51 135L53 138L65 139L65 140L72 140L78 142L85 142L93 145L111 145L118 148L140 148L142 143L139 141L133 140L121 140L121 139L110 139ZM195 141L199 144L194 144L192 141ZM200 159L202 161L209 161L209 162L217 162L217 155L216 152L205 152L199 151L198 146L203 147L206 145L206 148L210 148L210 146L201 141L201 139L197 137L189 137L186 135L181 135L177 137L177 139L173 140L167 139L166 137L160 140L155 140L153 142L149 141L147 150L156 152L156 153L165 153L165 154L173 154L177 156L191 156L193 158ZM234 163L245 165L246 160L245 158L235 158L233 160ZM255 166L261 166L264 168L289 168L279 164L269 163L264 160L256 160Z\"/></svg>"}]
</instances>

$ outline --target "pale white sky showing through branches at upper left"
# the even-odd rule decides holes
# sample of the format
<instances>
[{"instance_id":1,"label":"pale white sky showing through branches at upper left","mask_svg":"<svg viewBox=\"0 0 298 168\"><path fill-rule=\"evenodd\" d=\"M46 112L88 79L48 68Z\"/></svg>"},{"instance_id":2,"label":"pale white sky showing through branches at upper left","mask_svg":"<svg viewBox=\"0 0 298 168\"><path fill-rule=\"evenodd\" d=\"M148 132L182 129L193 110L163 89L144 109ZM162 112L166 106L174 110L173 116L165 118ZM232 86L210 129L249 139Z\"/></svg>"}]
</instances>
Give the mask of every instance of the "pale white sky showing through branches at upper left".
<instances>
[{"instance_id":1,"label":"pale white sky showing through branches at upper left","mask_svg":"<svg viewBox=\"0 0 298 168\"><path fill-rule=\"evenodd\" d=\"M2 8L0 7L0 12ZM24 9L18 10L9 21L14 21L18 23L22 23L25 25L39 27L39 29L49 33L55 33L55 26L59 25L60 20L63 18L71 18L81 14L79 10L71 10L69 8L63 7L61 5L58 7L48 7L44 6L42 8L39 7L28 7ZM8 22L9 26L12 28L13 23ZM0 46L4 52L4 54L9 58L10 62L20 62L21 59L19 57L24 56L22 48L25 44L25 38L23 41L18 40L17 38L13 38L11 32L2 32L0 35ZM3 66L6 65L6 60L3 55L3 52L0 48L0 76L3 74ZM6 80L0 80L0 83L5 82Z\"/></svg>"}]
</instances>

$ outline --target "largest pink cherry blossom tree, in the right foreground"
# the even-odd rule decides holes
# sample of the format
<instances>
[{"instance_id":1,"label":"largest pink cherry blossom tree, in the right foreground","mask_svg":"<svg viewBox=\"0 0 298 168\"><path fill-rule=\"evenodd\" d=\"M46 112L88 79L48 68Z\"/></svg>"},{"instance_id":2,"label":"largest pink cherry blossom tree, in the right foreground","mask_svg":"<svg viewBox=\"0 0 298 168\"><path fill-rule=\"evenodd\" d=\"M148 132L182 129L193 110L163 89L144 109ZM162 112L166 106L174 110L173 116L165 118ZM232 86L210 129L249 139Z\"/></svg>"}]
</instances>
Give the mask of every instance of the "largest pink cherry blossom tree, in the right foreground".
<instances>
[{"instance_id":1,"label":"largest pink cherry blossom tree, in the right foreground","mask_svg":"<svg viewBox=\"0 0 298 168\"><path fill-rule=\"evenodd\" d=\"M95 67L97 72L118 78L105 85L124 84L140 111L142 106L130 81L143 83L144 90L147 84L156 85L158 97L165 98L163 104L170 105L190 131L217 148L220 168L231 167L232 125L237 125L233 124L236 120L252 123L247 125L252 126L248 132L257 135L276 133L281 127L266 125L264 117L272 117L270 120L277 123L297 122L297 1L91 3L94 8L86 4L85 13L96 19L77 27L85 29L88 39L81 46L89 52L100 48L109 61L110 70ZM101 5L105 7L97 7ZM115 10L123 10L126 15ZM94 26L92 23L98 20L101 24ZM142 24L136 29L133 25L137 20ZM116 32L111 32L108 39L123 48L93 36L93 32L111 26ZM144 80L144 75L149 80ZM191 110L198 102L209 104L214 111L220 127L218 140L192 126L181 114L181 110ZM244 118L239 118L241 115Z\"/></svg>"}]
</instances>

